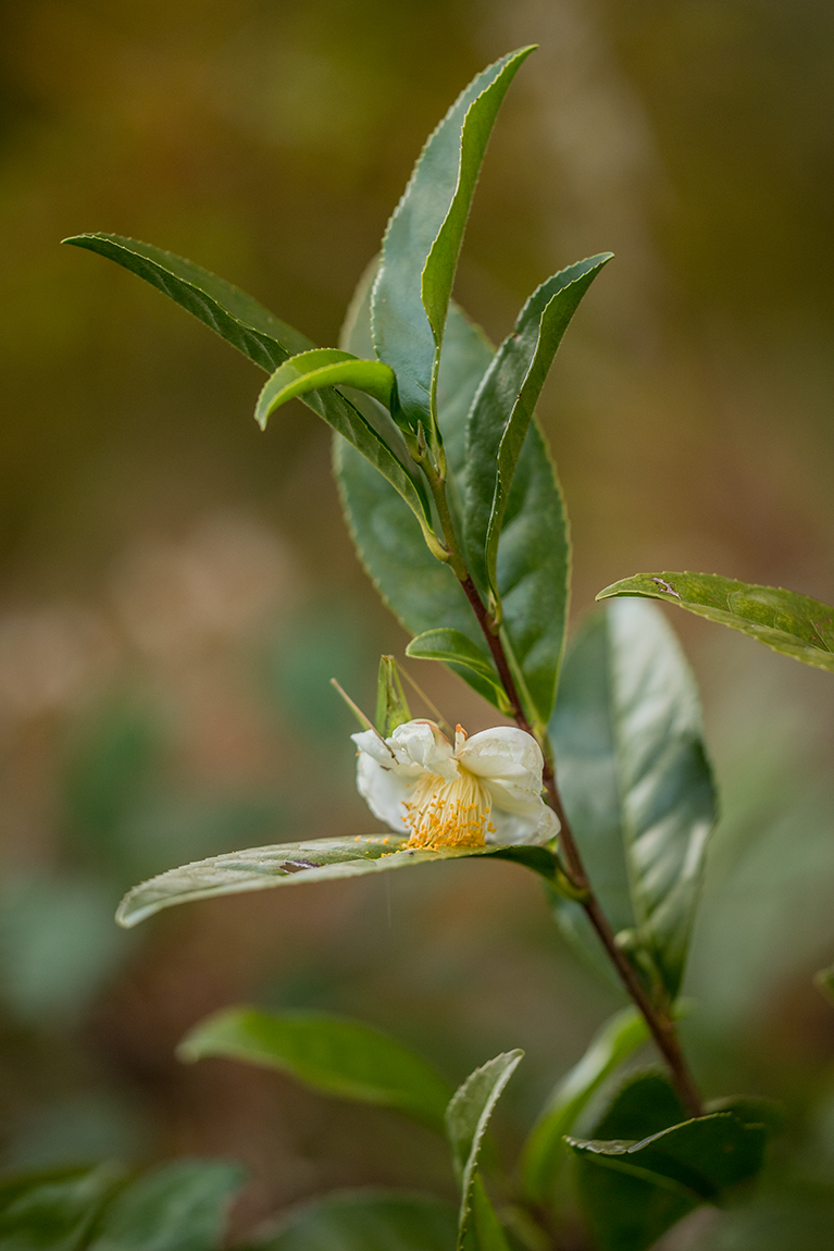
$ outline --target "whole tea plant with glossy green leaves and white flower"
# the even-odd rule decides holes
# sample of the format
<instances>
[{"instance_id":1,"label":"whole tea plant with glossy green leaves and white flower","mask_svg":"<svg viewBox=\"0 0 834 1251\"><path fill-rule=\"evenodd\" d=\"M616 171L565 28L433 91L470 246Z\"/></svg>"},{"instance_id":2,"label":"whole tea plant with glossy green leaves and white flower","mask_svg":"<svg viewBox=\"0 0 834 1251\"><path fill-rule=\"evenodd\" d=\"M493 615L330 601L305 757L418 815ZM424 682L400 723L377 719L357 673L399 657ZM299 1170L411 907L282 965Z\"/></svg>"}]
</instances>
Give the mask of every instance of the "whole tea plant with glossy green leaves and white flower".
<instances>
[{"instance_id":1,"label":"whole tea plant with glossy green leaves and white flower","mask_svg":"<svg viewBox=\"0 0 834 1251\"><path fill-rule=\"evenodd\" d=\"M414 718L395 662L383 657L373 719L349 702L361 726L353 736L359 789L388 832L173 869L135 887L120 922L190 899L488 856L536 874L555 922L631 1000L559 1082L496 1187L486 1185L483 1147L520 1051L488 1060L453 1091L421 1057L355 1021L233 1007L198 1025L181 1045L185 1061L226 1056L278 1068L448 1136L456 1213L429 1196L338 1195L258 1243L274 1251L536 1251L564 1245L564 1213L576 1201L591 1245L641 1251L695 1207L724 1203L750 1182L778 1127L764 1100L704 1103L678 1037L716 802L693 677L645 600L829 669L834 609L719 577L640 574L601 592L611 602L565 649L568 520L535 404L610 254L548 278L498 349L451 300L488 139L531 50L479 74L428 140L339 348L318 348L243 291L148 244L110 234L66 240L144 278L264 369L261 425L299 398L333 428L345 519L374 585L413 636L408 656L448 666L514 723L468 738L460 726ZM611 1095L613 1075L648 1041L663 1068L630 1071ZM0 1193L0 1223L19 1231L39 1211L46 1232L38 1246L209 1247L236 1185L223 1167L169 1166L126 1188L100 1171L16 1181ZM193 1198L174 1217L165 1186L178 1168L188 1173L178 1193Z\"/></svg>"}]
</instances>

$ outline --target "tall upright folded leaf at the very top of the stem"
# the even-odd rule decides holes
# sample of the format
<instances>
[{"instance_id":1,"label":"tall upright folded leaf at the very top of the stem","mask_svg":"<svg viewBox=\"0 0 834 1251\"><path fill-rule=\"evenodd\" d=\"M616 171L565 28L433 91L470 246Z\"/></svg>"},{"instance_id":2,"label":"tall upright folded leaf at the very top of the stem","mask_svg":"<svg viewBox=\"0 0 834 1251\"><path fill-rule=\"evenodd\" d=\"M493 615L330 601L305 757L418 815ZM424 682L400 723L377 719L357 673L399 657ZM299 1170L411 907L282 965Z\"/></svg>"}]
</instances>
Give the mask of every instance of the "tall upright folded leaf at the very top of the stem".
<instances>
[{"instance_id":1,"label":"tall upright folded leaf at the very top of the stem","mask_svg":"<svg viewBox=\"0 0 834 1251\"><path fill-rule=\"evenodd\" d=\"M428 140L388 224L373 291L376 354L390 365L404 420L433 434L440 345L466 218L498 109L524 48L469 84Z\"/></svg>"}]
</instances>

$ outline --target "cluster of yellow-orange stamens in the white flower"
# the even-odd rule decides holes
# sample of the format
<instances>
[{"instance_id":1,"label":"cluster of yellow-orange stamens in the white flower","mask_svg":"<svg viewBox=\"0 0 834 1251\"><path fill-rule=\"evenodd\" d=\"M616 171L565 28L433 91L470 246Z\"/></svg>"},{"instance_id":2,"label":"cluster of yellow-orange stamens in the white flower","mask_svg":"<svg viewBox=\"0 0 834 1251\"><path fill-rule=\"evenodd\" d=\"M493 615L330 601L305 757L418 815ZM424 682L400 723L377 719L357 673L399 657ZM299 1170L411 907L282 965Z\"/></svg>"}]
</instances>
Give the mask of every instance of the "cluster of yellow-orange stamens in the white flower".
<instances>
[{"instance_id":1,"label":"cluster of yellow-orange stamens in the white flower","mask_svg":"<svg viewBox=\"0 0 834 1251\"><path fill-rule=\"evenodd\" d=\"M495 833L489 819L486 788L469 769L460 768L453 782L436 773L424 773L414 787L414 798L403 807L405 823L411 829L406 847L428 851L483 847L484 832Z\"/></svg>"}]
</instances>

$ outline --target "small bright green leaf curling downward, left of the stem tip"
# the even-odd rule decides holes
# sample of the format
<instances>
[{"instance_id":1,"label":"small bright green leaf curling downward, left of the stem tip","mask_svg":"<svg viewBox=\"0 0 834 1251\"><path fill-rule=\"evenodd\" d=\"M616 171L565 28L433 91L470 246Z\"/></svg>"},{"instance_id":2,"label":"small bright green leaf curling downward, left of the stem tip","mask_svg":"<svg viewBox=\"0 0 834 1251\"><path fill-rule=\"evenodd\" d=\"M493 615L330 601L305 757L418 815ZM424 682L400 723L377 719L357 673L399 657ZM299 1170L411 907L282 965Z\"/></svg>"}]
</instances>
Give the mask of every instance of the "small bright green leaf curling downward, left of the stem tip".
<instances>
[{"instance_id":1,"label":"small bright green leaf curling downward, left of the stem tip","mask_svg":"<svg viewBox=\"0 0 834 1251\"><path fill-rule=\"evenodd\" d=\"M380 360L360 360L338 348L313 348L278 367L258 397L255 420L265 430L281 404L324 387L353 387L389 409L396 397L394 370Z\"/></svg>"}]
</instances>

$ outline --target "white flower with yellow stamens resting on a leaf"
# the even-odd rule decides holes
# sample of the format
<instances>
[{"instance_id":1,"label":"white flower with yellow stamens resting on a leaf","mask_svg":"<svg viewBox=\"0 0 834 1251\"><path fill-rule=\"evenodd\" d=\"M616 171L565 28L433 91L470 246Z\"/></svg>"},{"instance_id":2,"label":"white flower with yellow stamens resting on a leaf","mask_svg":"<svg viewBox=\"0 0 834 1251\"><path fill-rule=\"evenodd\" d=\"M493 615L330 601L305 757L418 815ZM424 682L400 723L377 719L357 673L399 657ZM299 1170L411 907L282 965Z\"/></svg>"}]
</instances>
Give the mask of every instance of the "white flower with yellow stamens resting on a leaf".
<instances>
[{"instance_id":1,"label":"white flower with yellow stamens resting on a leaf","mask_svg":"<svg viewBox=\"0 0 834 1251\"><path fill-rule=\"evenodd\" d=\"M531 734L496 726L454 747L433 721L409 721L390 738L351 734L356 786L368 807L408 847L544 843L559 821L541 798L541 749Z\"/></svg>"}]
</instances>

